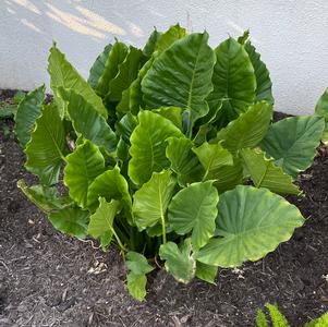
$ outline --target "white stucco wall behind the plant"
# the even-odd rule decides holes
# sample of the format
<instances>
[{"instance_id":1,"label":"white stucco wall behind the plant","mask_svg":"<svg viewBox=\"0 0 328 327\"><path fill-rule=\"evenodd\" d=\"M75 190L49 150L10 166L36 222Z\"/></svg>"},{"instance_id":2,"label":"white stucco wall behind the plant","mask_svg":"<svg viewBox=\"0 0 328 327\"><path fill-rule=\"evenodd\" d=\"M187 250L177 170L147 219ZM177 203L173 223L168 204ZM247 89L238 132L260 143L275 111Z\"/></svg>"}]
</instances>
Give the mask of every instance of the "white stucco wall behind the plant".
<instances>
[{"instance_id":1,"label":"white stucco wall behind the plant","mask_svg":"<svg viewBox=\"0 0 328 327\"><path fill-rule=\"evenodd\" d=\"M312 112L328 86L327 0L0 0L0 88L49 84L52 39L85 77L114 36L142 46L156 26L206 28L216 46L250 28L276 110Z\"/></svg>"}]
</instances>

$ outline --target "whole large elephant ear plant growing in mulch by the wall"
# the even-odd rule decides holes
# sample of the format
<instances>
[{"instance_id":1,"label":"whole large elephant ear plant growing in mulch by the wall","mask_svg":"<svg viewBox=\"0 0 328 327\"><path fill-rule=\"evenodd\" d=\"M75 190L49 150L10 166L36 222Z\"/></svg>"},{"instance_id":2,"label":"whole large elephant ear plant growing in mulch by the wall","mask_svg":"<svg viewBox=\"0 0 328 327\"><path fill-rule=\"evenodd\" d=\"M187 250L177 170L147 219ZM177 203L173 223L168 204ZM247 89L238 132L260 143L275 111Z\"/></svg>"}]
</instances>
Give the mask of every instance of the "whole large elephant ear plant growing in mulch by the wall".
<instances>
[{"instance_id":1,"label":"whole large elephant ear plant growing in mulch by the wall","mask_svg":"<svg viewBox=\"0 0 328 327\"><path fill-rule=\"evenodd\" d=\"M163 265L184 283L257 261L304 222L281 195L313 161L325 119L272 123L271 82L247 34L212 49L179 25L116 40L86 82L56 44L16 135L38 185L19 186L58 230L121 250L130 293ZM64 191L66 190L66 191Z\"/></svg>"}]
</instances>

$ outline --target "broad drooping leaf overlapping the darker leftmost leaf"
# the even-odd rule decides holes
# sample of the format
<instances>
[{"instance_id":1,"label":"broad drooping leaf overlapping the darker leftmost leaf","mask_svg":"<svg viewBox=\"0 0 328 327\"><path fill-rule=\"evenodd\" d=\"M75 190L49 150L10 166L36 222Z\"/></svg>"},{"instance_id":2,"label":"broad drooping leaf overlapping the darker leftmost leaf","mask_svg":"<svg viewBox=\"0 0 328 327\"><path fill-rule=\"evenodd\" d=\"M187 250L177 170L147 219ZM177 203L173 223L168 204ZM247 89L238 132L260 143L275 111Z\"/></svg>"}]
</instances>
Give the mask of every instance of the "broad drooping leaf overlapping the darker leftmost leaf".
<instances>
[{"instance_id":1,"label":"broad drooping leaf overlapping the darker leftmost leaf","mask_svg":"<svg viewBox=\"0 0 328 327\"><path fill-rule=\"evenodd\" d=\"M46 106L26 146L25 167L37 174L42 184L54 184L66 152L64 128L58 110L54 106Z\"/></svg>"}]
</instances>

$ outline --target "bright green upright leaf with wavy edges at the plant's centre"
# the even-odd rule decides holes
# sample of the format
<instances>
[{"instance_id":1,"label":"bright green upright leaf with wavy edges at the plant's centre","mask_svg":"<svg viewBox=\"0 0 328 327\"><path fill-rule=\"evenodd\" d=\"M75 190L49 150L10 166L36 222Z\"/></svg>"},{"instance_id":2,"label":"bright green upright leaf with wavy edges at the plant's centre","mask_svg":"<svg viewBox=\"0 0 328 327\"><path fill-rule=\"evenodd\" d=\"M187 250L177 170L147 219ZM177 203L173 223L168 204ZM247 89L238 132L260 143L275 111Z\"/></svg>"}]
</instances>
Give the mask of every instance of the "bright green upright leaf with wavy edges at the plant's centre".
<instances>
[{"instance_id":1,"label":"bright green upright leaf with wavy edges at the plant's centre","mask_svg":"<svg viewBox=\"0 0 328 327\"><path fill-rule=\"evenodd\" d=\"M147 182L154 171L170 166L166 157L166 140L182 136L181 131L168 119L151 111L141 111L139 124L131 135L129 177L135 184Z\"/></svg>"}]
</instances>

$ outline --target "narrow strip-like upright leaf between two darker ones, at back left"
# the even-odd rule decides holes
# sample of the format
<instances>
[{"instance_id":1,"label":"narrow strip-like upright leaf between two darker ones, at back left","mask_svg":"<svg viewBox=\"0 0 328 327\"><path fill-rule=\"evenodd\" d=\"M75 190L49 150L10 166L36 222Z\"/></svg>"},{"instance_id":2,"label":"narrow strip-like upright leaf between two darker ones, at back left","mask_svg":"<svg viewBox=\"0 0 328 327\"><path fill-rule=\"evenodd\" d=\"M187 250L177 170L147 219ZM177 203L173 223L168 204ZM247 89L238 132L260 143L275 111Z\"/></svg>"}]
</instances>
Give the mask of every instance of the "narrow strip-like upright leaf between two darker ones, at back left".
<instances>
[{"instance_id":1,"label":"narrow strip-like upright leaf between two darker ones, at back left","mask_svg":"<svg viewBox=\"0 0 328 327\"><path fill-rule=\"evenodd\" d=\"M119 66L126 58L126 55L127 47L123 43L116 41L106 58L105 66L96 88L97 94L102 98L108 94L109 84L119 73Z\"/></svg>"}]
</instances>

